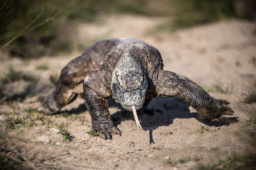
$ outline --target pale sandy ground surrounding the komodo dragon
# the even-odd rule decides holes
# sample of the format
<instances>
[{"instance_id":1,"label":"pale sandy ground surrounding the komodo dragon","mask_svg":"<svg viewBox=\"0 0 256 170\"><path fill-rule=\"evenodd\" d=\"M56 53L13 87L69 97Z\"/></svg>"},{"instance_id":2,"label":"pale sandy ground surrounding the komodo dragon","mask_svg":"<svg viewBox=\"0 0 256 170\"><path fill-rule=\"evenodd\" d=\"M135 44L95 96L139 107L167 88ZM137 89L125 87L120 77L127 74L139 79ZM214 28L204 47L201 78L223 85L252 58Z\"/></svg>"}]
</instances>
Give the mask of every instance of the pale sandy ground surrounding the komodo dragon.
<instances>
[{"instance_id":1,"label":"pale sandy ground surrounding the komodo dragon","mask_svg":"<svg viewBox=\"0 0 256 170\"><path fill-rule=\"evenodd\" d=\"M40 80L1 85L6 95L27 92L32 96L0 105L1 161L20 169L198 169L256 153L256 125L248 123L255 118L256 104L242 102L256 86L255 23L227 20L168 33L152 32L164 18L113 15L101 20L79 25L77 42L141 39L161 52L164 69L187 76L213 97L228 100L234 115L206 121L179 97L156 97L148 106L153 115L140 113L145 131L138 131L132 113L109 100L114 124L123 134L105 141L88 135L91 120L81 98L58 115L29 110L33 107L31 99L54 88L49 76L60 74L61 68L81 52L29 61L3 57L1 76L13 66ZM8 128L8 118L21 118L23 124ZM60 125L68 129L72 141L59 133Z\"/></svg>"}]
</instances>

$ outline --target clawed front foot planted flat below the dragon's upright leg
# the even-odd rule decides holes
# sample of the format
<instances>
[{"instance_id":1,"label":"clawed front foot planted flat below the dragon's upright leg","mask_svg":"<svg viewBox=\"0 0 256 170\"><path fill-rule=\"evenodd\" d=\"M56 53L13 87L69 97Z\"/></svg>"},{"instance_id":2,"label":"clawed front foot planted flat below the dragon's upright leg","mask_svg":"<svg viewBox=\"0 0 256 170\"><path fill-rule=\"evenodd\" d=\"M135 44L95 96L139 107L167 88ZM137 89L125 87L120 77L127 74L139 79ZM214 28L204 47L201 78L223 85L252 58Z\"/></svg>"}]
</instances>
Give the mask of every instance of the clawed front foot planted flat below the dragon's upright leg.
<instances>
[{"instance_id":1,"label":"clawed front foot planted flat below the dragon's upright leg","mask_svg":"<svg viewBox=\"0 0 256 170\"><path fill-rule=\"evenodd\" d=\"M118 127L113 127L113 124L95 122L92 124L92 134L94 133L98 133L100 138L107 140L112 139L112 134L119 134L121 136L122 131Z\"/></svg>"}]
</instances>

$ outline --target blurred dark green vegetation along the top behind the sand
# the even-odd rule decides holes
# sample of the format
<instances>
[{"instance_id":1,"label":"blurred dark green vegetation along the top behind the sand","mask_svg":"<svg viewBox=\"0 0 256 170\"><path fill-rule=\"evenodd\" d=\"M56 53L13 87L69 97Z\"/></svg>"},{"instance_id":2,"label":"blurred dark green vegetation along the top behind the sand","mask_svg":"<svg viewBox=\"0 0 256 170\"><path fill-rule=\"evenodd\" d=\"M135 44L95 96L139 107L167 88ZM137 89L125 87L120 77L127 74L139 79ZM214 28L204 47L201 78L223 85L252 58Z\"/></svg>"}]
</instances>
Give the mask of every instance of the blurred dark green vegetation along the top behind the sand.
<instances>
[{"instance_id":1,"label":"blurred dark green vegetation along the top behind the sand","mask_svg":"<svg viewBox=\"0 0 256 170\"><path fill-rule=\"evenodd\" d=\"M0 46L10 56L31 59L76 49L76 25L100 15L167 17L157 31L207 24L227 18L255 19L254 0L3 0ZM118 22L118 21L116 21Z\"/></svg>"}]
</instances>

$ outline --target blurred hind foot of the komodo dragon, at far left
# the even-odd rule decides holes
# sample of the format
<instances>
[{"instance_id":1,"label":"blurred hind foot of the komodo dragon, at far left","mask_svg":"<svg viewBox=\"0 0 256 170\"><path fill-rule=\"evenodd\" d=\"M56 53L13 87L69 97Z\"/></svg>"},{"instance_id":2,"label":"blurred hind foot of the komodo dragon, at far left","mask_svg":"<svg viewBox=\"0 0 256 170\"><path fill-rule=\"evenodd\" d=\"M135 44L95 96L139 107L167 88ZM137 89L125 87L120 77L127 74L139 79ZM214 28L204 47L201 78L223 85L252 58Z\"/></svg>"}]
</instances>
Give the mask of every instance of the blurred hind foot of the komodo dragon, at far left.
<instances>
[{"instance_id":1,"label":"blurred hind foot of the komodo dragon, at far left","mask_svg":"<svg viewBox=\"0 0 256 170\"><path fill-rule=\"evenodd\" d=\"M45 115L52 115L54 113L58 113L60 108L56 105L56 101L52 95L52 93L47 94L46 96L40 96L35 101L33 101L33 108Z\"/></svg>"}]
</instances>

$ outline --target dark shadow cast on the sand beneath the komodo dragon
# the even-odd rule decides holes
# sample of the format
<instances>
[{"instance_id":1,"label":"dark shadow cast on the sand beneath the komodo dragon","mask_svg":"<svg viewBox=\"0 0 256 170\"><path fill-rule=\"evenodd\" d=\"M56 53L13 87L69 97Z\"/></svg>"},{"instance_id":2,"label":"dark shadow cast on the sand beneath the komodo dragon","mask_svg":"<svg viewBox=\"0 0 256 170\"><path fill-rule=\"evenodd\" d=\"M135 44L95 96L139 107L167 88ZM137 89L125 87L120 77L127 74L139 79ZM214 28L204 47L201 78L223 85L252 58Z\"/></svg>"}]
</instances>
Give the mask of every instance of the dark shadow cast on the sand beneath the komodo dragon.
<instances>
[{"instance_id":1,"label":"dark shadow cast on the sand beneath the komodo dragon","mask_svg":"<svg viewBox=\"0 0 256 170\"><path fill-rule=\"evenodd\" d=\"M141 126L145 131L149 131L150 144L154 143L152 132L154 129L163 125L168 126L173 124L175 118L196 118L208 126L220 127L238 122L238 117L221 116L214 120L205 120L198 112L190 112L189 105L186 104L180 97L156 97L152 99L148 106L143 106L139 111L139 119ZM129 111L117 111L111 115L115 126L124 120L134 120L133 115Z\"/></svg>"}]
</instances>

